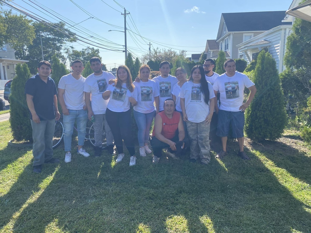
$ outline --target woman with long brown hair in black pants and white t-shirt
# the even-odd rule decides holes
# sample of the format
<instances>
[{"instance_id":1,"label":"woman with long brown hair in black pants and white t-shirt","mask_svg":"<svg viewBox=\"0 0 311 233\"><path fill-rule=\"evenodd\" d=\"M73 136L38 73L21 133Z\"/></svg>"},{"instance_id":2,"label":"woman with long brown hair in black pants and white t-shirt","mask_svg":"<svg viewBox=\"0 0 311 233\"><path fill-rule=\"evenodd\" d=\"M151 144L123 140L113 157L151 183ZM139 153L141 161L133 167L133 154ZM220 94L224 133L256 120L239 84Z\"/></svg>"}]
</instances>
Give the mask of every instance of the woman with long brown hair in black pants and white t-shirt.
<instances>
[{"instance_id":1,"label":"woman with long brown hair in black pants and white t-shirt","mask_svg":"<svg viewBox=\"0 0 311 233\"><path fill-rule=\"evenodd\" d=\"M108 85L102 97L109 103L106 110L106 120L114 136L114 144L118 150L116 162L124 158L123 142L130 153L130 166L136 164L135 148L132 137L132 117L130 106L137 105L137 89L132 84L131 73L127 66L119 66L117 78Z\"/></svg>"}]
</instances>

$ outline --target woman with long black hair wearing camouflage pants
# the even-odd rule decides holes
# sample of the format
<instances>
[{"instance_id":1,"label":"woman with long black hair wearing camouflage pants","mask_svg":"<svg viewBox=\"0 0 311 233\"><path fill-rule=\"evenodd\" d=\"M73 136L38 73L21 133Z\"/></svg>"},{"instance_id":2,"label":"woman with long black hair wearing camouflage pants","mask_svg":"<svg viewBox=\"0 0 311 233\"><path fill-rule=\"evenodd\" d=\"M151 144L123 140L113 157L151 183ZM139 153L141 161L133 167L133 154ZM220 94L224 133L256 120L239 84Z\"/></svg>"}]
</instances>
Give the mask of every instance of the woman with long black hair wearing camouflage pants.
<instances>
[{"instance_id":1,"label":"woman with long black hair wearing camouflage pants","mask_svg":"<svg viewBox=\"0 0 311 233\"><path fill-rule=\"evenodd\" d=\"M205 79L202 66L192 68L189 81L183 84L179 97L183 120L186 121L191 139L190 162L200 158L201 164L207 165L211 160L209 132L215 94L211 83Z\"/></svg>"}]
</instances>

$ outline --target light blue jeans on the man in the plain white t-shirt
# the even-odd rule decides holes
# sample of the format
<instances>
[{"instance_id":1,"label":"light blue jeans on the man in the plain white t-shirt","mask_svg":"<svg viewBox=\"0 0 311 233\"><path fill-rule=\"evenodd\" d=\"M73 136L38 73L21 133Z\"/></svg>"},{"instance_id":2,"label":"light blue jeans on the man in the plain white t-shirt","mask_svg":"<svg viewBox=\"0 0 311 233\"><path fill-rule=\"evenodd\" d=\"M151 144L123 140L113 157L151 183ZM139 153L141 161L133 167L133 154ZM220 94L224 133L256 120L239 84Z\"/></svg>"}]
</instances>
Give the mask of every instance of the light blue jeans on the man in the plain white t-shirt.
<instances>
[{"instance_id":1,"label":"light blue jeans on the man in the plain white t-shirt","mask_svg":"<svg viewBox=\"0 0 311 233\"><path fill-rule=\"evenodd\" d=\"M87 113L83 109L82 110L69 109L69 115L63 115L64 144L66 152L71 151L71 139L75 121L77 121L77 129L78 129L78 146L84 145Z\"/></svg>"}]
</instances>

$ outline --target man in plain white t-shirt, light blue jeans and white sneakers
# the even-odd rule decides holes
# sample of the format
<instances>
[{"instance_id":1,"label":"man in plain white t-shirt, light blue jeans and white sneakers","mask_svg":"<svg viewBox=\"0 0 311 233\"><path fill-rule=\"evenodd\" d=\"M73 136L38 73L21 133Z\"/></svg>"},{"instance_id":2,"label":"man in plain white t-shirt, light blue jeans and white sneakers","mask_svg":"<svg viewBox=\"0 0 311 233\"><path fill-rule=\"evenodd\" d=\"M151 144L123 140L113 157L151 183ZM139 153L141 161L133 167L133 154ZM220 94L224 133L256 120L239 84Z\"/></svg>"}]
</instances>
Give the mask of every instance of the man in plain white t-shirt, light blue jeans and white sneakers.
<instances>
[{"instance_id":1,"label":"man in plain white t-shirt, light blue jeans and white sneakers","mask_svg":"<svg viewBox=\"0 0 311 233\"><path fill-rule=\"evenodd\" d=\"M86 133L86 105L84 101L85 78L81 75L84 67L80 60L75 60L71 65L72 73L61 77L58 83L58 102L63 110L65 162L71 162L71 141L73 126L77 121L78 129L78 153L89 157L82 147Z\"/></svg>"}]
</instances>

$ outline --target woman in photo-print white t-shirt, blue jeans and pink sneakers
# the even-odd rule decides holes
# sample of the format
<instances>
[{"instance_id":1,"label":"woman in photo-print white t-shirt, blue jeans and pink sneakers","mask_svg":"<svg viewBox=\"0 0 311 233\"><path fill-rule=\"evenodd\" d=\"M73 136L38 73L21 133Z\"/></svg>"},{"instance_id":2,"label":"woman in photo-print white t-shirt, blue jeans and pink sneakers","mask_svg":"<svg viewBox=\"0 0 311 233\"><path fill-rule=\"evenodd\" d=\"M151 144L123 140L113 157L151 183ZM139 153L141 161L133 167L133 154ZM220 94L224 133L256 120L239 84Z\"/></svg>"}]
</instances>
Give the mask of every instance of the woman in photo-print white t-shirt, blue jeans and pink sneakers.
<instances>
[{"instance_id":1,"label":"woman in photo-print white t-shirt, blue jeans and pink sneakers","mask_svg":"<svg viewBox=\"0 0 311 233\"><path fill-rule=\"evenodd\" d=\"M134 117L138 127L138 143L139 153L145 157L146 152L151 153L148 147L149 131L156 115L155 105L159 105L159 89L156 82L150 80L150 67L142 65L139 68L140 82L133 82L135 89L137 89L137 105L134 107Z\"/></svg>"}]
</instances>

